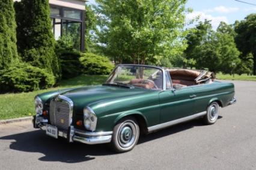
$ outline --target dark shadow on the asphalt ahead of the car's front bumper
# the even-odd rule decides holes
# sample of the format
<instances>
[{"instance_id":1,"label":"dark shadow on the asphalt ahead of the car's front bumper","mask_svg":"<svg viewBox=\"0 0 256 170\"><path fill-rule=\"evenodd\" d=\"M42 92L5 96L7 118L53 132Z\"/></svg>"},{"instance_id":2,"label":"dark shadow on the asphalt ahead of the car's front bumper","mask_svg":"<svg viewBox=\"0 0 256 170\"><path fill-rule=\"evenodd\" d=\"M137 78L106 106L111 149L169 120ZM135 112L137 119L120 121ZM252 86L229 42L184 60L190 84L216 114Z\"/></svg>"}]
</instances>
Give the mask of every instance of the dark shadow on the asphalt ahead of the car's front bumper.
<instances>
[{"instance_id":1,"label":"dark shadow on the asphalt ahead of the car's front bumper","mask_svg":"<svg viewBox=\"0 0 256 170\"><path fill-rule=\"evenodd\" d=\"M15 140L11 142L10 149L29 153L42 153L41 161L56 161L65 163L78 163L95 159L94 156L113 154L105 149L106 144L85 145L81 143L68 143L66 139L54 139L47 136L42 130L18 133L3 136L0 140Z\"/></svg>"}]
</instances>

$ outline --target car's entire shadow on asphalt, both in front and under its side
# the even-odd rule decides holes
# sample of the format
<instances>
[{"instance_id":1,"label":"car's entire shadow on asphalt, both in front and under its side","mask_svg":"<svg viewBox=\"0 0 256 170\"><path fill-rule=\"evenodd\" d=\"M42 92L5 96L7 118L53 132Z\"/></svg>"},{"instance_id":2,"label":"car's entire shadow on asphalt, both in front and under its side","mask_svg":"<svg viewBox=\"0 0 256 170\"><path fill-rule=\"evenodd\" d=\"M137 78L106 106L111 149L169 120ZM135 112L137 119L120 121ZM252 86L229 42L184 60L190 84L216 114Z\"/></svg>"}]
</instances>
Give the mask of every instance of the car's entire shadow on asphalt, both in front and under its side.
<instances>
[{"instance_id":1,"label":"car's entire shadow on asphalt, both in front and under its side","mask_svg":"<svg viewBox=\"0 0 256 170\"><path fill-rule=\"evenodd\" d=\"M182 132L195 126L204 126L204 124L201 123L201 120L178 124L156 133L141 136L138 144ZM78 163L93 160L95 156L115 154L108 149L107 144L85 145L78 142L68 143L64 138L54 139L47 136L42 130L2 136L0 140L14 140L10 144L11 150L42 153L44 156L38 160L47 162Z\"/></svg>"}]
</instances>

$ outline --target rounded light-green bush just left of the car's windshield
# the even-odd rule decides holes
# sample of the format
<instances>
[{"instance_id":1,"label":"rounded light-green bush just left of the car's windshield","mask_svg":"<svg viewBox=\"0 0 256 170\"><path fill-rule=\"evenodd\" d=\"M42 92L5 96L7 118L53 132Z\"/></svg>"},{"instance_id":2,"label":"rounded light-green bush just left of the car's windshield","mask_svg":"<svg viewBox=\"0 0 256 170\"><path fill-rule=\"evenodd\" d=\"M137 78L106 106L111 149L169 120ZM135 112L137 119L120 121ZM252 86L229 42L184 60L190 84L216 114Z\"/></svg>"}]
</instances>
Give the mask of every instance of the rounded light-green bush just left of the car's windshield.
<instances>
[{"instance_id":1,"label":"rounded light-green bush just left of the car's windshield","mask_svg":"<svg viewBox=\"0 0 256 170\"><path fill-rule=\"evenodd\" d=\"M83 53L80 61L85 74L109 74L114 68L114 64L108 58L94 53Z\"/></svg>"}]
</instances>

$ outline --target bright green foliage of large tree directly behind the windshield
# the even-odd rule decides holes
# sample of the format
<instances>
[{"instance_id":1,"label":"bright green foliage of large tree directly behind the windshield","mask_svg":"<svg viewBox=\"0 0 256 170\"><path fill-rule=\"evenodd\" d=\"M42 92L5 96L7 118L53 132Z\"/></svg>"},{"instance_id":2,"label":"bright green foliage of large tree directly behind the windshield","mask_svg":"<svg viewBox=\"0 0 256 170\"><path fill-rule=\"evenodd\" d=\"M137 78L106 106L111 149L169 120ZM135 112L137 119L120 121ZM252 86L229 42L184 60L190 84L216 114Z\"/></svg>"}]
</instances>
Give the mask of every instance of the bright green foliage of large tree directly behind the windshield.
<instances>
[{"instance_id":1,"label":"bright green foliage of large tree directly behind the windshield","mask_svg":"<svg viewBox=\"0 0 256 170\"><path fill-rule=\"evenodd\" d=\"M176 56L183 40L186 0L97 0L98 44L116 63L154 62L154 56Z\"/></svg>"}]
</instances>

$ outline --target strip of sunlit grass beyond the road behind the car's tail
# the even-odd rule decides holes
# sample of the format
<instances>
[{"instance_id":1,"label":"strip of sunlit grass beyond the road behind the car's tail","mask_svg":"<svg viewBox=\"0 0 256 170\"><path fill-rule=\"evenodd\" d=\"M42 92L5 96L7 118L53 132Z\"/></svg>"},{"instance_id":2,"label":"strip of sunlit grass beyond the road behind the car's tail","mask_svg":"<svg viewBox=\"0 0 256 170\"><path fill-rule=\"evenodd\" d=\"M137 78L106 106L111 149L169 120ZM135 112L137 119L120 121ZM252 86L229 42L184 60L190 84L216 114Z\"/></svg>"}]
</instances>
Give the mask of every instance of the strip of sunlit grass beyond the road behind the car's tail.
<instances>
[{"instance_id":1,"label":"strip of sunlit grass beyond the road behind the car's tail","mask_svg":"<svg viewBox=\"0 0 256 170\"><path fill-rule=\"evenodd\" d=\"M247 74L242 74L239 76L239 74L234 74L230 75L230 74L222 74L222 73L218 73L216 74L217 79L221 79L221 80L247 80L247 81L256 81L256 76L248 76Z\"/></svg>"}]
</instances>

